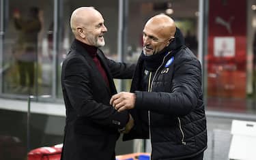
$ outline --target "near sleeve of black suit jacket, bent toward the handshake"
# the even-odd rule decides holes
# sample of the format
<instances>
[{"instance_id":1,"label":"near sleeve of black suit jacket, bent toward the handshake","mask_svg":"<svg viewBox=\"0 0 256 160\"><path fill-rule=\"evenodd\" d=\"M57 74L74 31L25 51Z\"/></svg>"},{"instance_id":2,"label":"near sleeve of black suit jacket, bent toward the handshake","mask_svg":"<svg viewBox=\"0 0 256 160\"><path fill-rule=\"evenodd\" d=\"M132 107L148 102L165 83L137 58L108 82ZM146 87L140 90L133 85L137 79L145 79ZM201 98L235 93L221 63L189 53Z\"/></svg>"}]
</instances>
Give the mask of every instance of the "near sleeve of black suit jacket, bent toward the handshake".
<instances>
[{"instance_id":1,"label":"near sleeve of black suit jacket, bent toward the handshake","mask_svg":"<svg viewBox=\"0 0 256 160\"><path fill-rule=\"evenodd\" d=\"M62 72L62 85L70 100L71 110L75 110L76 116L83 116L94 123L109 127L122 128L126 125L129 118L127 111L117 112L110 105L98 103L93 99L91 76L88 65L83 60L69 59L63 63Z\"/></svg>"}]
</instances>

